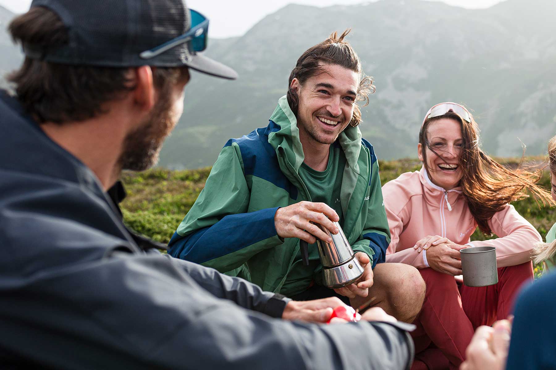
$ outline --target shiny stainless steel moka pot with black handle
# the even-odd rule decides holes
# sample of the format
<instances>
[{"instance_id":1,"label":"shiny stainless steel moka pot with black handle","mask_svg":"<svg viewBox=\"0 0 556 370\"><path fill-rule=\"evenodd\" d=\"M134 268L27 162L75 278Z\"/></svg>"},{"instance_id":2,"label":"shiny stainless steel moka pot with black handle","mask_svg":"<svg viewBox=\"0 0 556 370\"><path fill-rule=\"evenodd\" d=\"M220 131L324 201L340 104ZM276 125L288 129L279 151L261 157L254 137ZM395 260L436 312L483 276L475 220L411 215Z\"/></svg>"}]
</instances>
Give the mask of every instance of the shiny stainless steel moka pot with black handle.
<instances>
[{"instance_id":1,"label":"shiny stainless steel moka pot with black handle","mask_svg":"<svg viewBox=\"0 0 556 370\"><path fill-rule=\"evenodd\" d=\"M338 234L332 234L326 227L315 224L332 238L331 243L326 243L319 238L316 244L319 249L320 262L322 264L322 281L329 288L341 288L357 281L363 275L363 267L355 258L349 242L347 242L344 231L338 222L334 225L338 228ZM303 265L309 266L309 244L299 241Z\"/></svg>"}]
</instances>

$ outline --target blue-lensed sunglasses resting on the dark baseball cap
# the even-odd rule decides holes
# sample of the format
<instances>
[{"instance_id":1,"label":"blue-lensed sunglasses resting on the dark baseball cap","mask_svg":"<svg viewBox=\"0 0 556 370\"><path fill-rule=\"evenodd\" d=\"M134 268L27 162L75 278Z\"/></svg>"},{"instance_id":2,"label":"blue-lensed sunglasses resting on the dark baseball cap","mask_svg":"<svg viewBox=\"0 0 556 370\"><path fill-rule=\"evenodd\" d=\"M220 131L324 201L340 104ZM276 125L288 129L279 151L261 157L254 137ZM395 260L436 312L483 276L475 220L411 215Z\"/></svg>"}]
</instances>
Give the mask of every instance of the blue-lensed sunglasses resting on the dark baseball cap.
<instances>
[{"instance_id":1,"label":"blue-lensed sunglasses resting on the dark baseball cap","mask_svg":"<svg viewBox=\"0 0 556 370\"><path fill-rule=\"evenodd\" d=\"M189 9L189 14L191 17L191 28L189 31L163 43L162 45L158 45L155 48L141 52L139 56L143 59L150 59L156 57L158 54L162 54L166 50L186 42L189 42L188 46L190 52L202 52L205 50L207 48L209 19L201 13L191 9Z\"/></svg>"}]
</instances>

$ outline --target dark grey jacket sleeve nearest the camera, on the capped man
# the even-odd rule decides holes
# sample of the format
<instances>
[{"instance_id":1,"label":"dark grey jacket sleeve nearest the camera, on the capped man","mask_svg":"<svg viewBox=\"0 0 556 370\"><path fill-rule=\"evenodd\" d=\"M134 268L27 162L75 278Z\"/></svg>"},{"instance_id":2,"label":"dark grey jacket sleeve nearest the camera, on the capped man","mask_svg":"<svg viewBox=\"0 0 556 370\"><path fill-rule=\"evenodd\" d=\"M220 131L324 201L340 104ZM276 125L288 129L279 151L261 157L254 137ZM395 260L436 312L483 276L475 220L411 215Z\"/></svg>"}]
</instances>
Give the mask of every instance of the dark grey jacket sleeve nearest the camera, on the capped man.
<instances>
[{"instance_id":1,"label":"dark grey jacket sleeve nearest the camera, on the capped man","mask_svg":"<svg viewBox=\"0 0 556 370\"><path fill-rule=\"evenodd\" d=\"M222 299L227 289L212 295L178 260L122 249L11 279L0 305L0 327L11 334L0 339L0 357L83 369L401 369L412 361L412 343L395 325L271 318Z\"/></svg>"}]
</instances>

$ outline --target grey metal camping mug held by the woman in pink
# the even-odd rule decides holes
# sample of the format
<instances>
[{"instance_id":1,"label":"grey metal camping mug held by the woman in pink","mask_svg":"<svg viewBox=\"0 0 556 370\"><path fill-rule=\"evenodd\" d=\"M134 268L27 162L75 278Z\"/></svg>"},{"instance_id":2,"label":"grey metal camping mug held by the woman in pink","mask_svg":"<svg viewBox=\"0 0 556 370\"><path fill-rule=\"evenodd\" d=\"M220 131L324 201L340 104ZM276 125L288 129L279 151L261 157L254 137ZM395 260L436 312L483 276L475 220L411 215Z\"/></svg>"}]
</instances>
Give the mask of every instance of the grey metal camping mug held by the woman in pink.
<instances>
[{"instance_id":1,"label":"grey metal camping mug held by the woman in pink","mask_svg":"<svg viewBox=\"0 0 556 370\"><path fill-rule=\"evenodd\" d=\"M463 283L466 286L487 286L498 283L495 247L470 247L460 250Z\"/></svg>"}]
</instances>

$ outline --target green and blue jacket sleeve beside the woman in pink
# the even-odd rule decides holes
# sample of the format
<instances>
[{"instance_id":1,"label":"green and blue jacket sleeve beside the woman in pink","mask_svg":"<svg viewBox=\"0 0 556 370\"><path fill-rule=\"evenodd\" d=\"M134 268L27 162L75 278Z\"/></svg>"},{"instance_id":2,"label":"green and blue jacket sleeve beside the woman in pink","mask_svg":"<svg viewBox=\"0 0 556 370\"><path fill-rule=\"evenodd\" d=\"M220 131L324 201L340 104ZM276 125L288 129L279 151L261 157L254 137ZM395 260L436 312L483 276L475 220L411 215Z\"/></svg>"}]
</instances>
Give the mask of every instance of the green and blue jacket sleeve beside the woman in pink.
<instances>
[{"instance_id":1,"label":"green and blue jacket sleeve beside the woman in pink","mask_svg":"<svg viewBox=\"0 0 556 370\"><path fill-rule=\"evenodd\" d=\"M369 203L365 226L358 240L351 246L354 252L369 255L373 268L376 263L385 262L386 248L390 243L390 230L384 209L383 193L380 185L379 165L374 154L369 182Z\"/></svg>"}]
</instances>

